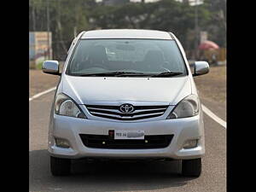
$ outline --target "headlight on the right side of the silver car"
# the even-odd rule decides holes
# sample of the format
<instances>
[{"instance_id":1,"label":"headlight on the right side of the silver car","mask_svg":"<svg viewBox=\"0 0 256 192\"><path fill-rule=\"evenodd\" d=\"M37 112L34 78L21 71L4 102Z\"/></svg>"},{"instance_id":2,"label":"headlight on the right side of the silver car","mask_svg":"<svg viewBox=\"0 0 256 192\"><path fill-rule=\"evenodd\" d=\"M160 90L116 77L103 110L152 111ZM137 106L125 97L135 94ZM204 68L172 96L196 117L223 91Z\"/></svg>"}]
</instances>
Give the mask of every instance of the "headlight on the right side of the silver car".
<instances>
[{"instance_id":1,"label":"headlight on the right side of the silver car","mask_svg":"<svg viewBox=\"0 0 256 192\"><path fill-rule=\"evenodd\" d=\"M185 97L172 109L167 119L192 117L199 113L199 100L195 95Z\"/></svg>"}]
</instances>

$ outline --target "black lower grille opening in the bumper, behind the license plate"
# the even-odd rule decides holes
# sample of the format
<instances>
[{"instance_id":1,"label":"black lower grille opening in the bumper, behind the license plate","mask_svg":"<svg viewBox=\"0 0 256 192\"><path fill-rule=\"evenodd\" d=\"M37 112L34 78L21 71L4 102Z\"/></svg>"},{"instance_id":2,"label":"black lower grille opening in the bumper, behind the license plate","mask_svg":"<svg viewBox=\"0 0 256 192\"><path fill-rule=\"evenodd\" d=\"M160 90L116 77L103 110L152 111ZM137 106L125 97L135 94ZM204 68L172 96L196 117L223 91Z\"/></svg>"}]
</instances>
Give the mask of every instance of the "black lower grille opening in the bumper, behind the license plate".
<instances>
[{"instance_id":1,"label":"black lower grille opening in the bumper, behind the license plate","mask_svg":"<svg viewBox=\"0 0 256 192\"><path fill-rule=\"evenodd\" d=\"M166 148L172 142L173 135L144 136L144 140L113 139L108 135L80 134L84 146L88 148L143 149ZM147 140L147 143L145 142Z\"/></svg>"}]
</instances>

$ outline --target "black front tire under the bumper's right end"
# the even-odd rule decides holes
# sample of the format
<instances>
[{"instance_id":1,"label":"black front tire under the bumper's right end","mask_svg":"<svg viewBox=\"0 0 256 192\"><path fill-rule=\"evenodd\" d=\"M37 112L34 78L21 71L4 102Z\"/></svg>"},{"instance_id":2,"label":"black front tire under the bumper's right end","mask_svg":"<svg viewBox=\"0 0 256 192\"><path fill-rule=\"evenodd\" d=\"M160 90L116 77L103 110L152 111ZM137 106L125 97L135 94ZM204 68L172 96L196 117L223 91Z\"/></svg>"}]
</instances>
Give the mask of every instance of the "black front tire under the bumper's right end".
<instances>
[{"instance_id":1,"label":"black front tire under the bumper's right end","mask_svg":"<svg viewBox=\"0 0 256 192\"><path fill-rule=\"evenodd\" d=\"M195 160L182 160L182 174L189 177L200 177L201 158Z\"/></svg>"}]
</instances>

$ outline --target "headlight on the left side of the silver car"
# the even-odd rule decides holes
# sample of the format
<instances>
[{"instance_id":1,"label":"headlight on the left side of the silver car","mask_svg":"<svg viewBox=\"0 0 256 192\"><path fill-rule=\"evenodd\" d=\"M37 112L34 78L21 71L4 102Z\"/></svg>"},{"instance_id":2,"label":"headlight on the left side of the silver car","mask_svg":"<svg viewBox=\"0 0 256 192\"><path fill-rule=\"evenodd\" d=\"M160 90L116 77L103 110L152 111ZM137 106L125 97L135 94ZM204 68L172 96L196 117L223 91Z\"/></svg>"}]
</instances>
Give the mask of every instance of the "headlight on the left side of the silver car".
<instances>
[{"instance_id":1,"label":"headlight on the left side of the silver car","mask_svg":"<svg viewBox=\"0 0 256 192\"><path fill-rule=\"evenodd\" d=\"M85 114L81 111L81 109L73 101L73 99L71 99L63 93L56 96L55 113L69 117L86 119Z\"/></svg>"}]
</instances>

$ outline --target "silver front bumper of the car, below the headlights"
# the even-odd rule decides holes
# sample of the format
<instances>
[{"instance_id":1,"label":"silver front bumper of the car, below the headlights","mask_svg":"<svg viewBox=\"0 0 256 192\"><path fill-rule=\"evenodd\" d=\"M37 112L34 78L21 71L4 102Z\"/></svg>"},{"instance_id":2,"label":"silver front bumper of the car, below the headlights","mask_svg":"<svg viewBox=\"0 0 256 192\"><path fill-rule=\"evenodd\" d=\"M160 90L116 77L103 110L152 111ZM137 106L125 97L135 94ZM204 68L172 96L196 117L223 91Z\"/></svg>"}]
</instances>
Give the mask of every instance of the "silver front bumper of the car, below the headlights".
<instances>
[{"instance_id":1,"label":"silver front bumper of the car, below the headlights","mask_svg":"<svg viewBox=\"0 0 256 192\"><path fill-rule=\"evenodd\" d=\"M49 154L60 158L170 158L195 159L205 154L204 125L201 115L183 119L164 119L146 122L110 122L95 119L78 119L53 114L49 125ZM108 130L143 130L145 135L170 135L172 142L166 148L107 149L87 148L79 134L108 135ZM65 138L70 148L60 148L55 138ZM197 147L183 148L190 139L198 139Z\"/></svg>"}]
</instances>

